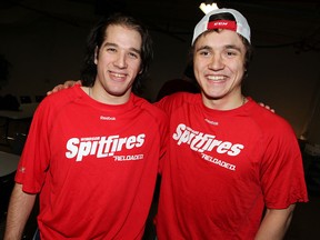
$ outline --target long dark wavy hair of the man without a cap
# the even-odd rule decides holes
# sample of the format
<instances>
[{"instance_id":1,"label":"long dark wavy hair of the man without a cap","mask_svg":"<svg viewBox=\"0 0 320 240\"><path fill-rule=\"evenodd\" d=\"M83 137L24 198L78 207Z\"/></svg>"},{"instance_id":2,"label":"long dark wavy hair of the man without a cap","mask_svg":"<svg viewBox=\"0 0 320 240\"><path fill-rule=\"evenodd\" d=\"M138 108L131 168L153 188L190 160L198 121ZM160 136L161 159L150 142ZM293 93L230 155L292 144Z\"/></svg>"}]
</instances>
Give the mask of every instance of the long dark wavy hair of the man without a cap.
<instances>
[{"instance_id":1,"label":"long dark wavy hair of the man without a cap","mask_svg":"<svg viewBox=\"0 0 320 240\"><path fill-rule=\"evenodd\" d=\"M94 63L96 48L98 48L99 51L101 44L107 37L107 28L111 24L123 26L129 29L133 29L138 31L141 36L141 71L137 76L132 86L132 91L137 93L141 87L141 82L148 76L148 70L153 59L152 39L146 26L143 26L139 20L134 19L133 17L123 13L113 13L108 18L102 18L89 33L87 40L87 48L84 51L84 61L81 69L82 84L86 87L91 87L94 83L97 77L97 66Z\"/></svg>"}]
</instances>

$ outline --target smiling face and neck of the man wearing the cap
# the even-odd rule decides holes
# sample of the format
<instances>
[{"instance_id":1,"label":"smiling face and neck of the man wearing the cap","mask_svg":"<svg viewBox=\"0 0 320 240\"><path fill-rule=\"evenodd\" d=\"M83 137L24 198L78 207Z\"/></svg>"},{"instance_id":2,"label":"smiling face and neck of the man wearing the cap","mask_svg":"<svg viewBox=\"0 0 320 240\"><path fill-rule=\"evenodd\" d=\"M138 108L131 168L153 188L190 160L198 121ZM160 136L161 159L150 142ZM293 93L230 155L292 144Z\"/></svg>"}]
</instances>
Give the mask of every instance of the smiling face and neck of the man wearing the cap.
<instances>
[{"instance_id":1,"label":"smiling face and neck of the man wearing the cap","mask_svg":"<svg viewBox=\"0 0 320 240\"><path fill-rule=\"evenodd\" d=\"M241 38L231 30L206 32L193 51L194 76L204 104L221 110L241 106L246 56Z\"/></svg>"}]
</instances>

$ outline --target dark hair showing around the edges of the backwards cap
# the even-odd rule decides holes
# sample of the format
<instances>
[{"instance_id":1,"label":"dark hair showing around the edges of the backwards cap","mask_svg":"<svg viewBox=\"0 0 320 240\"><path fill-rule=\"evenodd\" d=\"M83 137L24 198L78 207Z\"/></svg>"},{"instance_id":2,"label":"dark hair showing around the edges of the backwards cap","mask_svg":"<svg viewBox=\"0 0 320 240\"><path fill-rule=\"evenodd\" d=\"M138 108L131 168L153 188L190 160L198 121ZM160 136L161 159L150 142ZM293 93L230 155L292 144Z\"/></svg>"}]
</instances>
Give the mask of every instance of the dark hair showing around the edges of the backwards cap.
<instances>
[{"instance_id":1,"label":"dark hair showing around the edges of the backwards cap","mask_svg":"<svg viewBox=\"0 0 320 240\"><path fill-rule=\"evenodd\" d=\"M214 21L214 20L233 20L233 21L236 21L234 17L232 14L228 13L228 12L223 12L223 13L218 13L218 14L211 16L210 21ZM202 34L208 34L209 32L212 32L212 31L220 31L220 29L208 30L208 31L203 32ZM200 36L202 36L202 34L200 34ZM193 54L194 54L194 46L196 46L196 42L198 41L199 37L196 39L196 41L192 44L192 47L190 49L190 52L189 52L189 57L190 57L191 61L193 61L192 59L193 59ZM252 54L253 54L253 47L241 34L239 34L239 37L241 38L242 43L244 44L244 48L246 48L246 56L244 56L244 63L243 63L243 67L244 67L244 76L243 76L243 78L247 78L248 77L249 63L250 63L250 61L252 59Z\"/></svg>"}]
</instances>

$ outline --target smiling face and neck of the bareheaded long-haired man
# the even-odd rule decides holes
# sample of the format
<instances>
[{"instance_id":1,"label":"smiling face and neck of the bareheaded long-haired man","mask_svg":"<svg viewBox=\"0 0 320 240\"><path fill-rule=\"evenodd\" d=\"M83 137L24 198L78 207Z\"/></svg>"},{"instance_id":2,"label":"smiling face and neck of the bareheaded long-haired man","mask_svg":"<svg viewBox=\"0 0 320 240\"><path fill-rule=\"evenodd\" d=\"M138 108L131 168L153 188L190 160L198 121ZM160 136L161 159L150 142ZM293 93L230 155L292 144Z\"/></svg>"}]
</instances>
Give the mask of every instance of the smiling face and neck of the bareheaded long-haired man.
<instances>
[{"instance_id":1,"label":"smiling face and neck of the bareheaded long-haired man","mask_svg":"<svg viewBox=\"0 0 320 240\"><path fill-rule=\"evenodd\" d=\"M141 68L142 39L138 31L120 24L110 24L94 63L97 78L92 88L93 98L111 104L129 100L132 83Z\"/></svg>"}]
</instances>

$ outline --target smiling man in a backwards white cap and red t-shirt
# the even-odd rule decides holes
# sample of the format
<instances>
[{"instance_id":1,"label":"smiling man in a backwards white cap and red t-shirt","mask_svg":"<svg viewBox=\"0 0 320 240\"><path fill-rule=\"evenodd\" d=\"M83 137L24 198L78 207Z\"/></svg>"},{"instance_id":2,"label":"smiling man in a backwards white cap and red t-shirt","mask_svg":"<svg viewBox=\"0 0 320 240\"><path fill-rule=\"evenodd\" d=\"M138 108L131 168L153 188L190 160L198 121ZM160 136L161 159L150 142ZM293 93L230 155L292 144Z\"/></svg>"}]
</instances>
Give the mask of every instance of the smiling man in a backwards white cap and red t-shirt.
<instances>
[{"instance_id":1,"label":"smiling man in a backwards white cap and red t-shirt","mask_svg":"<svg viewBox=\"0 0 320 240\"><path fill-rule=\"evenodd\" d=\"M201 93L157 103L170 116L158 239L282 239L294 203L308 201L302 160L289 123L241 92L251 54L246 18L211 11L191 51Z\"/></svg>"}]
</instances>

